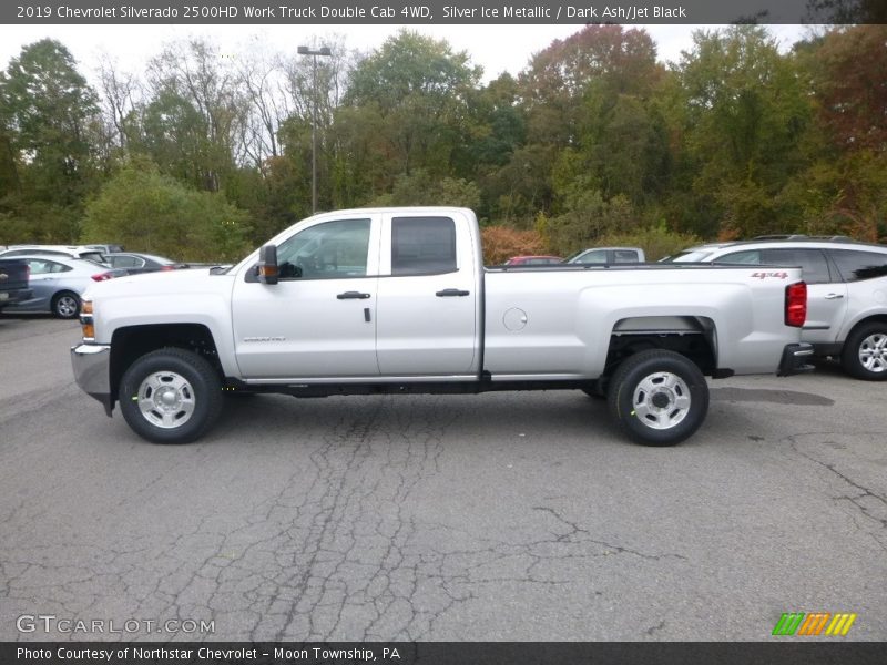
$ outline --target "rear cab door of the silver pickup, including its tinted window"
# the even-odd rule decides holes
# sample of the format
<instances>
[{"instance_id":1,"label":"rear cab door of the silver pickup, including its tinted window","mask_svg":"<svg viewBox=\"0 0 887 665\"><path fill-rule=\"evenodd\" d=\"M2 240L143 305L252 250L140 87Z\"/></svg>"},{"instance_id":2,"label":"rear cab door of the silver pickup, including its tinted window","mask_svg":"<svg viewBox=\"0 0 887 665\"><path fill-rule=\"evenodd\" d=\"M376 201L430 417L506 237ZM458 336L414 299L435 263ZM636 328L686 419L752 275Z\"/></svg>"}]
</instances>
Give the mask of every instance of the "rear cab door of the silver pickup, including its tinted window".
<instances>
[{"instance_id":1,"label":"rear cab door of the silver pickup, including its tinted window","mask_svg":"<svg viewBox=\"0 0 887 665\"><path fill-rule=\"evenodd\" d=\"M478 270L461 214L383 219L376 355L387 377L477 375Z\"/></svg>"}]
</instances>

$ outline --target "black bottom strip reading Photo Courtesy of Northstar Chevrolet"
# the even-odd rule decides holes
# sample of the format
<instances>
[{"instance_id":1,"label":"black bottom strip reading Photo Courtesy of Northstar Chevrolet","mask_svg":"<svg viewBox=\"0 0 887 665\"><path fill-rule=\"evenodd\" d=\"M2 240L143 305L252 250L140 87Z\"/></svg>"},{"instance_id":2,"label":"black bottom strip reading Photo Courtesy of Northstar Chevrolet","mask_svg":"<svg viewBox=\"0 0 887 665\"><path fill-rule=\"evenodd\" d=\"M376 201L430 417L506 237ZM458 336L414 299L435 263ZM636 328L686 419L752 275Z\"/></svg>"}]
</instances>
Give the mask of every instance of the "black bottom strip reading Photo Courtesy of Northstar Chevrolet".
<instances>
[{"instance_id":1,"label":"black bottom strip reading Photo Courtesy of Northstar Chevrolet","mask_svg":"<svg viewBox=\"0 0 887 665\"><path fill-rule=\"evenodd\" d=\"M74 637L74 636L72 636ZM125 635L121 635L125 640ZM4 665L875 665L885 645L843 638L773 642L4 642Z\"/></svg>"}]
</instances>

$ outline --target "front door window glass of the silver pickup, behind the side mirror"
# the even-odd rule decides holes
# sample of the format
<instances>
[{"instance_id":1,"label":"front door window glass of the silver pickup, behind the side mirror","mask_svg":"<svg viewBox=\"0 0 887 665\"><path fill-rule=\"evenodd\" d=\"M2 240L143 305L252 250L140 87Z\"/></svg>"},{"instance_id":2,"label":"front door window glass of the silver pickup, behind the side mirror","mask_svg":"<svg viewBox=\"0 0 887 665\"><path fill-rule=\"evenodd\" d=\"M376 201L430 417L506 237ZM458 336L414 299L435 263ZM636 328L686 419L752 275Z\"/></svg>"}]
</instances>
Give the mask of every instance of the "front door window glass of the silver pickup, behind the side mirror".
<instances>
[{"instance_id":1,"label":"front door window glass of the silver pickup, behind the side mirror","mask_svg":"<svg viewBox=\"0 0 887 665\"><path fill-rule=\"evenodd\" d=\"M277 247L281 279L365 277L370 219L337 219L317 224Z\"/></svg>"}]
</instances>

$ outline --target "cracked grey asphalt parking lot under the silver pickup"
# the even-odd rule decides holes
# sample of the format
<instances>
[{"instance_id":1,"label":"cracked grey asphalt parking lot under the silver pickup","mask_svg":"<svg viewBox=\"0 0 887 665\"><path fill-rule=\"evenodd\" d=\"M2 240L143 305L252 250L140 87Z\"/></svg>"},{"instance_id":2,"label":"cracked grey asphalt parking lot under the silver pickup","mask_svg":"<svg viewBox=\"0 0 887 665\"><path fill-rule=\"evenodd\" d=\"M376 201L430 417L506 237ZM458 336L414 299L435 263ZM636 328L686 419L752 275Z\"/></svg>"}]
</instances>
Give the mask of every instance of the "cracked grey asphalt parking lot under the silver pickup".
<instances>
[{"instance_id":1,"label":"cracked grey asphalt parking lot under the silver pickup","mask_svg":"<svg viewBox=\"0 0 887 665\"><path fill-rule=\"evenodd\" d=\"M156 446L78 340L0 316L0 641L887 638L887 383L714 381L665 449L580 391L234 398Z\"/></svg>"}]
</instances>

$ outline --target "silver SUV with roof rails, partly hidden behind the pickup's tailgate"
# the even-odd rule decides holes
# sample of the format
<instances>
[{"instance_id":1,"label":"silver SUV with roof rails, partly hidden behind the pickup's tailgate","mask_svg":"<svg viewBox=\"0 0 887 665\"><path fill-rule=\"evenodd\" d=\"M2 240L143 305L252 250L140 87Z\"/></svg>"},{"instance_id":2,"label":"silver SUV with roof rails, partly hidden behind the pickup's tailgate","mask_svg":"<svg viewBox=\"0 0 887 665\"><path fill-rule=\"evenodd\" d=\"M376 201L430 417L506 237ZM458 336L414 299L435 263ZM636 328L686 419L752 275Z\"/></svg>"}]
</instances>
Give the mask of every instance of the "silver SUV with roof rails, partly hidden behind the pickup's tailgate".
<instances>
[{"instance_id":1,"label":"silver SUV with roof rails, partly hidden behind the pickup's tailgate","mask_svg":"<svg viewBox=\"0 0 887 665\"><path fill-rule=\"evenodd\" d=\"M785 236L691 247L675 263L801 266L807 283L802 339L840 358L859 379L887 379L887 246L843 237Z\"/></svg>"}]
</instances>

